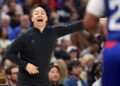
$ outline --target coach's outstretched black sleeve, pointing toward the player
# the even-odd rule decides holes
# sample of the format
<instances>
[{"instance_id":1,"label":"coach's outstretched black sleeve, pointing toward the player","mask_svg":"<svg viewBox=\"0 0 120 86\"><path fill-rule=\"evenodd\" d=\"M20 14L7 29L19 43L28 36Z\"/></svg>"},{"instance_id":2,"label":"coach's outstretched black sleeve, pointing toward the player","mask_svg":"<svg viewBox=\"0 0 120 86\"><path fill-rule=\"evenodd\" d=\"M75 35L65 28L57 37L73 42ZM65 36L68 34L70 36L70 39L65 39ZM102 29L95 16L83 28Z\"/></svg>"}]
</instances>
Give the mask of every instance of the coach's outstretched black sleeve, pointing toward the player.
<instances>
[{"instance_id":1,"label":"coach's outstretched black sleeve, pointing toward the player","mask_svg":"<svg viewBox=\"0 0 120 86\"><path fill-rule=\"evenodd\" d=\"M67 25L53 26L57 37L61 37L76 31L83 30L83 21L77 21Z\"/></svg>"}]
</instances>

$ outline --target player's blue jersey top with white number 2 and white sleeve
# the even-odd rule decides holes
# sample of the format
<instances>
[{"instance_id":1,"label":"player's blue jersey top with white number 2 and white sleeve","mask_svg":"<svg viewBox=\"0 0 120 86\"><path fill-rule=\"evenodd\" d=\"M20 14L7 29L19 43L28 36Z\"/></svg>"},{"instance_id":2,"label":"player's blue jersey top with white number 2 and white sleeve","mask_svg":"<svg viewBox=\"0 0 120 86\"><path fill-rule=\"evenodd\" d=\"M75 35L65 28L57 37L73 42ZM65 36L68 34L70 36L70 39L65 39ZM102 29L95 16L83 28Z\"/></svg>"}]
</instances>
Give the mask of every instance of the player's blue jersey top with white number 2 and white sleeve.
<instances>
[{"instance_id":1,"label":"player's blue jersey top with white number 2 and white sleeve","mask_svg":"<svg viewBox=\"0 0 120 86\"><path fill-rule=\"evenodd\" d=\"M89 0L86 11L96 17L106 12L107 40L120 41L120 0Z\"/></svg>"}]
</instances>

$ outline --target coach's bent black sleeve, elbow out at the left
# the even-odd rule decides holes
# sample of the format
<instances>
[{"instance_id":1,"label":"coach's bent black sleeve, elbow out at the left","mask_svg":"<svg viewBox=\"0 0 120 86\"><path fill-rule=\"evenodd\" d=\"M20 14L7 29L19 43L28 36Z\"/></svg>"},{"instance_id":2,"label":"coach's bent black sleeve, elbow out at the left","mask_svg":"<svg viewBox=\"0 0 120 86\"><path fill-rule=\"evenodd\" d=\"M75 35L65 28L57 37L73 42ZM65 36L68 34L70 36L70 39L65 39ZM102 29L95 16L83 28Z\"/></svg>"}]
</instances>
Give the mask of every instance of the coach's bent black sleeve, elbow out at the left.
<instances>
[{"instance_id":1,"label":"coach's bent black sleeve, elbow out at the left","mask_svg":"<svg viewBox=\"0 0 120 86\"><path fill-rule=\"evenodd\" d=\"M20 67L26 67L27 62L20 59L18 54L25 46L25 34L18 36L10 45L6 51L5 58L9 59L13 63L17 64Z\"/></svg>"}]
</instances>

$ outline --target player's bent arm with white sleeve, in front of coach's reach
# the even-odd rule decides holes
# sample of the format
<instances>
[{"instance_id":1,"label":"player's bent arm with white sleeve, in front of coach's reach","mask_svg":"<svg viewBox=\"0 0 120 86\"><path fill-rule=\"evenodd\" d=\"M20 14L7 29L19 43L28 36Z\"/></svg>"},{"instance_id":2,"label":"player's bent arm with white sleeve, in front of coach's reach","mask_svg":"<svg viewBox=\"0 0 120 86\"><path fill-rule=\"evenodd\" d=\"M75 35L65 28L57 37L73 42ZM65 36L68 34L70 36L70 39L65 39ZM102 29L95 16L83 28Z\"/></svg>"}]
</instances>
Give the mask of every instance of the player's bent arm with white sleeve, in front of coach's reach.
<instances>
[{"instance_id":1,"label":"player's bent arm with white sleeve, in front of coach's reach","mask_svg":"<svg viewBox=\"0 0 120 86\"><path fill-rule=\"evenodd\" d=\"M101 28L99 17L104 15L103 0L89 0L84 17L84 26L90 32L95 32L97 28Z\"/></svg>"}]
</instances>

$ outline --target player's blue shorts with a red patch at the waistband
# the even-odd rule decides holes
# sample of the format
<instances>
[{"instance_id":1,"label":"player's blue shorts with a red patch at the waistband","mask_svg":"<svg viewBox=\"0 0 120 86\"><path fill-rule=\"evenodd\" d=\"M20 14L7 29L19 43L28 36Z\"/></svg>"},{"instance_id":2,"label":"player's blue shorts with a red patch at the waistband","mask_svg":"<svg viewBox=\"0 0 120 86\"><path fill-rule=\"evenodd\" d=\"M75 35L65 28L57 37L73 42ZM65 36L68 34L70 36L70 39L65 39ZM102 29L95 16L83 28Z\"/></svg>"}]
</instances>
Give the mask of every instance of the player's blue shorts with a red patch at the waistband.
<instances>
[{"instance_id":1,"label":"player's blue shorts with a red patch at the waistband","mask_svg":"<svg viewBox=\"0 0 120 86\"><path fill-rule=\"evenodd\" d=\"M120 42L104 45L102 86L120 86Z\"/></svg>"}]
</instances>

